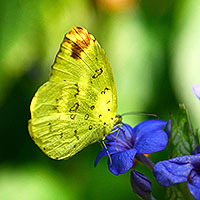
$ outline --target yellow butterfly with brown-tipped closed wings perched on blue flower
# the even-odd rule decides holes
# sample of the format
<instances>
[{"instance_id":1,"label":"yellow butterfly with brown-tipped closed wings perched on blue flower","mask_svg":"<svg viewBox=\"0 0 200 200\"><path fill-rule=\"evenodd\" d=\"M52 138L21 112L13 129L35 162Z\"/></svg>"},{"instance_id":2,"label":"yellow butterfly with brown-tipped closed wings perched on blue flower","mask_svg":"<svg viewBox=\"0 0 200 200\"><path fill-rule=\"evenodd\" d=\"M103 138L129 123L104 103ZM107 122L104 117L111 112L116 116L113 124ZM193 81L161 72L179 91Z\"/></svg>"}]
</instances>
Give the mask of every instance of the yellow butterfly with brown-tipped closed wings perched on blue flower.
<instances>
[{"instance_id":1,"label":"yellow butterfly with brown-tipped closed wings perched on blue flower","mask_svg":"<svg viewBox=\"0 0 200 200\"><path fill-rule=\"evenodd\" d=\"M32 99L28 129L47 156L68 159L121 121L116 86L104 50L82 27L65 35L51 68Z\"/></svg>"}]
</instances>

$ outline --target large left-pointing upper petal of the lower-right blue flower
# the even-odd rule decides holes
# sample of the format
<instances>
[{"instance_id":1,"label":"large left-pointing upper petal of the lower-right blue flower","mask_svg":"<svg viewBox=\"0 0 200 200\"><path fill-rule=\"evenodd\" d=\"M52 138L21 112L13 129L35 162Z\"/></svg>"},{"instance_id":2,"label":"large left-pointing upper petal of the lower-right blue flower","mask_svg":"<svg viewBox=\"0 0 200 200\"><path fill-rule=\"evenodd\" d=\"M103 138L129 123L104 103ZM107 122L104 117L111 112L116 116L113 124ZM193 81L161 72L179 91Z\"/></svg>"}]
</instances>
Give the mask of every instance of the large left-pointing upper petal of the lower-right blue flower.
<instances>
[{"instance_id":1,"label":"large left-pointing upper petal of the lower-right blue flower","mask_svg":"<svg viewBox=\"0 0 200 200\"><path fill-rule=\"evenodd\" d=\"M153 169L154 176L163 186L186 182L197 159L200 159L200 155L182 156L158 162Z\"/></svg>"}]
</instances>

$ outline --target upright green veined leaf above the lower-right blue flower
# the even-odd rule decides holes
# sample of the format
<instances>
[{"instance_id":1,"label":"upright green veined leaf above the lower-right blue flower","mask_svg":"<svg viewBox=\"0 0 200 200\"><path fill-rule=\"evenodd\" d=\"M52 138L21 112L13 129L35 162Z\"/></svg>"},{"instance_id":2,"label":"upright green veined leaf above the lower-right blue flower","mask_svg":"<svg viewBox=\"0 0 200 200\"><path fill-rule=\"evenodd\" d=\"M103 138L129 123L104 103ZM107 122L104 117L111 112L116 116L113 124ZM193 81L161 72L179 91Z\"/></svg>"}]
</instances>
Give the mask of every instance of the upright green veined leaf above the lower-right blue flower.
<instances>
[{"instance_id":1,"label":"upright green veined leaf above the lower-right blue flower","mask_svg":"<svg viewBox=\"0 0 200 200\"><path fill-rule=\"evenodd\" d=\"M188 110L185 105L180 104L177 117L172 116L169 158L191 155L197 145L199 145L198 134L194 133Z\"/></svg>"}]
</instances>

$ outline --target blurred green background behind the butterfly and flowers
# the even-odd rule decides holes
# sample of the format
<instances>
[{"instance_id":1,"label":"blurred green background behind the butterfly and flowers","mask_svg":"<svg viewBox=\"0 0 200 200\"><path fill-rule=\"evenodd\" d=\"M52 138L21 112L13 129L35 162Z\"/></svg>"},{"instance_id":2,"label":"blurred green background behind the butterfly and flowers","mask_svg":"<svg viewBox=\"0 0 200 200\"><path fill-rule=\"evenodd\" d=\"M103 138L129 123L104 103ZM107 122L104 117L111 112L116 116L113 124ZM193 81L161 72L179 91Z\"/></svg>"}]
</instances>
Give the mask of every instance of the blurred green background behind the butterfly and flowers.
<instances>
[{"instance_id":1,"label":"blurred green background behind the butterfly and flowers","mask_svg":"<svg viewBox=\"0 0 200 200\"><path fill-rule=\"evenodd\" d=\"M46 157L27 131L29 105L48 80L64 34L83 26L95 35L113 69L118 113L145 111L168 120L178 103L199 126L200 0L10 0L0 1L0 199L138 199L129 172L115 176L93 144L67 161ZM127 116L134 126L144 117ZM167 150L151 155L154 162ZM163 188L142 165L136 170Z\"/></svg>"}]
</instances>

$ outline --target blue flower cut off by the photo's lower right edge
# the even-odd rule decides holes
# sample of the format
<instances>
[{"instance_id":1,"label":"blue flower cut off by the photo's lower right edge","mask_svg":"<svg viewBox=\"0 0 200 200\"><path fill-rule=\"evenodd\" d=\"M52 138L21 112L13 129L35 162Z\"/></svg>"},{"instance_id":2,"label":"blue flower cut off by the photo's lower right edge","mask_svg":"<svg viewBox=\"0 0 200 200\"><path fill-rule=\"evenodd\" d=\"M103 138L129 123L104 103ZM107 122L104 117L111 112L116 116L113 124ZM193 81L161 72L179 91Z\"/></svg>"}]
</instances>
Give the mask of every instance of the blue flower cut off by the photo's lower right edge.
<instances>
[{"instance_id":1,"label":"blue flower cut off by the photo's lower right edge","mask_svg":"<svg viewBox=\"0 0 200 200\"><path fill-rule=\"evenodd\" d=\"M187 182L191 194L200 200L200 153L158 162L153 173L163 186Z\"/></svg>"}]
</instances>

